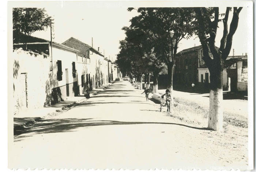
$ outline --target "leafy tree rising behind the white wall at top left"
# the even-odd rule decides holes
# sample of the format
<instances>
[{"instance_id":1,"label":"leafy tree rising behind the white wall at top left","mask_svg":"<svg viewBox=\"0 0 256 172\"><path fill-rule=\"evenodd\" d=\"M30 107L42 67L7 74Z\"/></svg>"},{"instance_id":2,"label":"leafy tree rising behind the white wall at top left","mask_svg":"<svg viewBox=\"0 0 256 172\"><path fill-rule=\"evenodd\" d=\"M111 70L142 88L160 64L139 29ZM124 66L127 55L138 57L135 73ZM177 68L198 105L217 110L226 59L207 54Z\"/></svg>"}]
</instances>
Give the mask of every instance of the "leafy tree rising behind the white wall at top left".
<instances>
[{"instance_id":1,"label":"leafy tree rising behind the white wall at top left","mask_svg":"<svg viewBox=\"0 0 256 172\"><path fill-rule=\"evenodd\" d=\"M13 8L13 41L26 45L28 37L35 31L43 31L53 23L53 18L44 8Z\"/></svg>"}]
</instances>

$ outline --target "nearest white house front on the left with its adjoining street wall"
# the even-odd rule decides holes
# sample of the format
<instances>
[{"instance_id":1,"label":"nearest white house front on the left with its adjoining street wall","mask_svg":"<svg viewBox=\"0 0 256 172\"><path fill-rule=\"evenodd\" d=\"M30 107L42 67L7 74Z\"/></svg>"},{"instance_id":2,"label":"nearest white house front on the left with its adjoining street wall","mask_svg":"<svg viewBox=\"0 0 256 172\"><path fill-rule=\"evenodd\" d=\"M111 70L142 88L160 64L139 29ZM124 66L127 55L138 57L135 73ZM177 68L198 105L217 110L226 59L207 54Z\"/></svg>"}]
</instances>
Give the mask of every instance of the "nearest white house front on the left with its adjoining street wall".
<instances>
[{"instance_id":1,"label":"nearest white house front on the left with its adjoining street wall","mask_svg":"<svg viewBox=\"0 0 256 172\"><path fill-rule=\"evenodd\" d=\"M39 108L79 95L75 72L79 68L76 63L79 51L62 44L41 41L28 43L29 51L23 50L23 44L13 45L16 111L21 108L20 104L22 108ZM36 53L38 50L40 52ZM20 89L17 89L19 84Z\"/></svg>"}]
</instances>

